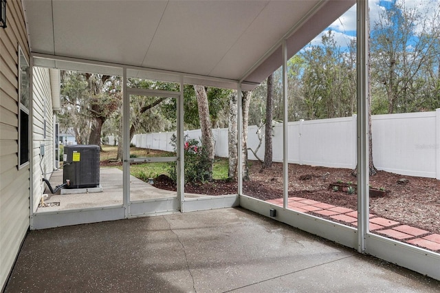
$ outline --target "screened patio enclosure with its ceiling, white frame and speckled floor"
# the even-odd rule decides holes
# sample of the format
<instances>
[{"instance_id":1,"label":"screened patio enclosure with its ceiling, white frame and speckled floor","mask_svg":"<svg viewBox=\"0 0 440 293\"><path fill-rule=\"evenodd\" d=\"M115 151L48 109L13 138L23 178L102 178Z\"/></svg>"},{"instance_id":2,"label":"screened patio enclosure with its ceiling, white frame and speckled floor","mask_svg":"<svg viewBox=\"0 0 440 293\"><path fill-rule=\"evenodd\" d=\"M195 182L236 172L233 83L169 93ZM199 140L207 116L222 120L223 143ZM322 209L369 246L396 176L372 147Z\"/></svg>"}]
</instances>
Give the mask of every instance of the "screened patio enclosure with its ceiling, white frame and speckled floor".
<instances>
[{"instance_id":1,"label":"screened patio enclosure with its ceiling, white frame and speckled floor","mask_svg":"<svg viewBox=\"0 0 440 293\"><path fill-rule=\"evenodd\" d=\"M353 227L289 208L287 61L356 2L358 217ZM440 280L439 253L370 232L367 2L23 0L31 65L122 76L122 191L118 203L39 213L34 202L41 195L31 186L25 224L32 231L5 291L440 290L434 280ZM243 193L241 155L236 194L186 195L184 85L236 90L241 149L242 91L254 89L279 67L283 202ZM130 77L175 83L179 90L130 88ZM177 100L175 157L148 159L177 162L173 197L136 197L130 165L146 158L129 153L131 95ZM41 148L34 150L38 158ZM30 168L30 181L40 183L35 170Z\"/></svg>"}]
</instances>

